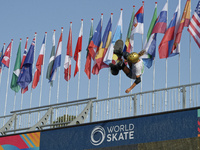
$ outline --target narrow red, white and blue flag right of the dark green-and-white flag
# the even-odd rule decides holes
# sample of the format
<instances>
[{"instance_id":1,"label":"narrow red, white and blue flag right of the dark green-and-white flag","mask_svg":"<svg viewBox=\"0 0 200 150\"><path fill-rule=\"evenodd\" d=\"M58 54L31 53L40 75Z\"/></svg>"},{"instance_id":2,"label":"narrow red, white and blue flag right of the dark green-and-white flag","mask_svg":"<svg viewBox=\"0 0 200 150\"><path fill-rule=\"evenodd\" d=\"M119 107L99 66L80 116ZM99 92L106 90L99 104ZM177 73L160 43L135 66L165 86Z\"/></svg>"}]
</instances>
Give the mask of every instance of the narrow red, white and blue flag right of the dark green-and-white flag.
<instances>
[{"instance_id":1,"label":"narrow red, white and blue flag right of the dark green-and-white flag","mask_svg":"<svg viewBox=\"0 0 200 150\"><path fill-rule=\"evenodd\" d=\"M51 76L50 76L50 80L49 80L50 82L55 80L57 68L60 67L60 64L61 64L62 34L63 34L63 27L61 28L61 34L60 34L58 46L57 46L57 49L56 49L56 55L55 55L55 59L54 59L54 62L53 62L53 68L52 68L52 72L51 72Z\"/></svg>"}]
</instances>

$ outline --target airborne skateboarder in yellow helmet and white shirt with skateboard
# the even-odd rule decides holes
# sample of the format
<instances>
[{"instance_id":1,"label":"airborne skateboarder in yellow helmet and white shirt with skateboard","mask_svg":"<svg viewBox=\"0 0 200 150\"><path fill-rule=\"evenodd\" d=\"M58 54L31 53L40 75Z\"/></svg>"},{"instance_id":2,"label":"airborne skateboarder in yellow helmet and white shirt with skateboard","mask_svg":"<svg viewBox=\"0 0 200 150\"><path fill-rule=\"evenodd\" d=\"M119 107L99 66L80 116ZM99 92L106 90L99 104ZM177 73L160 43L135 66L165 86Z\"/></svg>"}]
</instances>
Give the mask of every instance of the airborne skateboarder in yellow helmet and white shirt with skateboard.
<instances>
[{"instance_id":1,"label":"airborne skateboarder in yellow helmet and white shirt with skateboard","mask_svg":"<svg viewBox=\"0 0 200 150\"><path fill-rule=\"evenodd\" d=\"M111 74L117 75L119 70L123 72L131 79L135 79L135 82L126 89L126 93L129 93L137 84L141 82L141 75L144 72L144 64L142 59L139 57L145 53L145 50L142 50L139 53L133 52L122 52L123 50L123 41L117 40L114 45L114 57L118 58L116 63L110 63ZM123 56L123 59L121 57ZM124 63L128 62L129 67Z\"/></svg>"}]
</instances>

